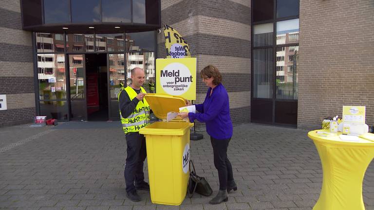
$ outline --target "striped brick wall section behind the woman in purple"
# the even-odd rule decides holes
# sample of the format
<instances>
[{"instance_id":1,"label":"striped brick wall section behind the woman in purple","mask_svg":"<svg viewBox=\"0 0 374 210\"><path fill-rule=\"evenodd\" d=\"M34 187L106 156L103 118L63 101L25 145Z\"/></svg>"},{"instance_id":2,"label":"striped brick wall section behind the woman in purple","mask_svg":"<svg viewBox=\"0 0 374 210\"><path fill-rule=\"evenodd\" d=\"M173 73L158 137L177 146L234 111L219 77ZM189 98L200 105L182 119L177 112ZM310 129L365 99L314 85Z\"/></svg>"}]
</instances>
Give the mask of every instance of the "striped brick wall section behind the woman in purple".
<instances>
[{"instance_id":1,"label":"striped brick wall section behind the woman in purple","mask_svg":"<svg viewBox=\"0 0 374 210\"><path fill-rule=\"evenodd\" d=\"M162 0L161 24L168 24L187 41L197 57L197 100L204 101L206 86L200 70L212 64L223 74L234 124L250 121L251 27L250 0ZM163 32L158 35L158 57L165 58ZM204 125L197 123L197 130Z\"/></svg>"}]
</instances>

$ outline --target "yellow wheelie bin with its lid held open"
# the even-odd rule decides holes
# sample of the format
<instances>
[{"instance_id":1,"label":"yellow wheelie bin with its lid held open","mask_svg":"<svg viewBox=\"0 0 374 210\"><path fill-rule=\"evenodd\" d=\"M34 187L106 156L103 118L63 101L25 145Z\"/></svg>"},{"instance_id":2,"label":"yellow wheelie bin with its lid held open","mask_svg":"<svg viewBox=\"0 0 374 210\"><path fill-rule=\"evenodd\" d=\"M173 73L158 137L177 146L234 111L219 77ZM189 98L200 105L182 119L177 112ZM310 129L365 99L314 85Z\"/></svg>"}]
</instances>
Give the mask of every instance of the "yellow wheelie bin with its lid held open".
<instances>
[{"instance_id":1,"label":"yellow wheelie bin with its lid held open","mask_svg":"<svg viewBox=\"0 0 374 210\"><path fill-rule=\"evenodd\" d=\"M145 96L154 115L163 119L139 130L147 144L150 200L155 204L180 205L189 178L189 131L192 123L166 122L168 112L186 106L182 97L167 94Z\"/></svg>"}]
</instances>

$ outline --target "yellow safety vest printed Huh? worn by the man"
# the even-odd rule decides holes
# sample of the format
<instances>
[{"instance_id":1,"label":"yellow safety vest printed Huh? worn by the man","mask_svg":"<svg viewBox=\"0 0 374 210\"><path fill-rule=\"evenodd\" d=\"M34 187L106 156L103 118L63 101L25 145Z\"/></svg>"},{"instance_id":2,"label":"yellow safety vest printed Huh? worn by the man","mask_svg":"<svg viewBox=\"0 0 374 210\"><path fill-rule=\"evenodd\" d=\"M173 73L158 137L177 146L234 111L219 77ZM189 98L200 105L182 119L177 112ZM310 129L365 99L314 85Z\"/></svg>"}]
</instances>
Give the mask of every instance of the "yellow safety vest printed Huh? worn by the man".
<instances>
[{"instance_id":1,"label":"yellow safety vest printed Huh? worn by the man","mask_svg":"<svg viewBox=\"0 0 374 210\"><path fill-rule=\"evenodd\" d=\"M140 87L140 89L141 92L147 93L143 87ZM123 90L125 90L129 95L130 101L138 95L130 86L122 88L118 94L118 102L119 96ZM150 105L147 103L146 99L143 98L143 102L139 101L130 116L127 118L122 117L121 109L119 110L119 115L121 116L122 129L125 134L129 132L138 132L140 128L150 124Z\"/></svg>"}]
</instances>

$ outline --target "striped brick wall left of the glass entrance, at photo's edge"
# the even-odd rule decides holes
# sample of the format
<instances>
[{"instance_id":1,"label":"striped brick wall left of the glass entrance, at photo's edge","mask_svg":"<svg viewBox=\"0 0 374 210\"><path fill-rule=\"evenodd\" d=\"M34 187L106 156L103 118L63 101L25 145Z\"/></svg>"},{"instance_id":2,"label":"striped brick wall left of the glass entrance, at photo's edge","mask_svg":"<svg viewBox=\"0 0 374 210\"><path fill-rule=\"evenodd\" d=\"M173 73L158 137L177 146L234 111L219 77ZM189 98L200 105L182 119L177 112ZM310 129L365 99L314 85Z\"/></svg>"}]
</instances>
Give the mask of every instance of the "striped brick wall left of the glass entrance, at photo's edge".
<instances>
[{"instance_id":1,"label":"striped brick wall left of the glass entrance, at photo's edge","mask_svg":"<svg viewBox=\"0 0 374 210\"><path fill-rule=\"evenodd\" d=\"M0 94L7 110L0 111L0 127L30 123L35 116L31 33L22 31L19 0L0 2Z\"/></svg>"}]
</instances>

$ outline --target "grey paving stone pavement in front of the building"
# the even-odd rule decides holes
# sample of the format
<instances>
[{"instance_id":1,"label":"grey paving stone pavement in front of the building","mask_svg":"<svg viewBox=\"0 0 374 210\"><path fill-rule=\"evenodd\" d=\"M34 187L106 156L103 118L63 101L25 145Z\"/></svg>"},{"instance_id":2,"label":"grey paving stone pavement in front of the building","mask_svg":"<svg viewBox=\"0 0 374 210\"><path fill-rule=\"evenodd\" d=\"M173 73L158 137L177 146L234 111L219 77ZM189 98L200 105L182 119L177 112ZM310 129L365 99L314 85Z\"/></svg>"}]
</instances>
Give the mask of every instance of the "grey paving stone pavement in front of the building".
<instances>
[{"instance_id":1,"label":"grey paving stone pavement in front of the building","mask_svg":"<svg viewBox=\"0 0 374 210\"><path fill-rule=\"evenodd\" d=\"M198 175L210 183L212 196L195 194L180 206L164 206L152 204L149 192L140 191L142 201L131 202L125 192L126 142L119 122L84 123L0 128L0 147L13 144L0 153L0 209L311 210L319 196L321 164L307 130L242 124L234 127L228 148L238 184L228 202L208 204L219 186L206 133L204 140L191 141L191 158ZM147 168L145 174L148 180ZM363 196L366 210L374 210L373 162Z\"/></svg>"}]
</instances>

